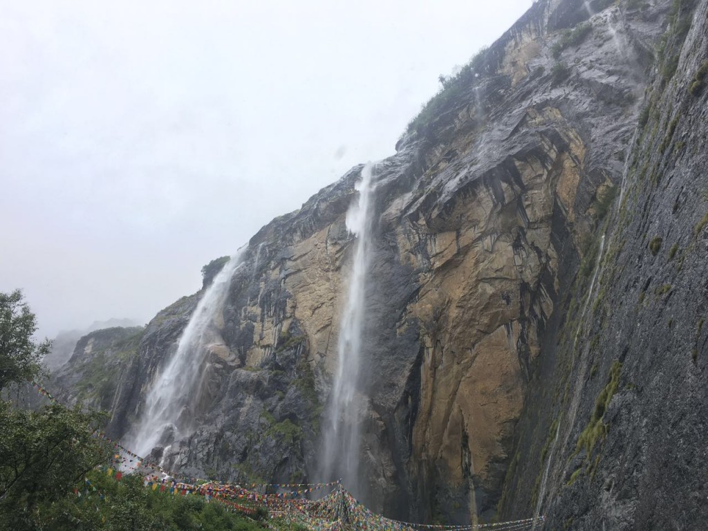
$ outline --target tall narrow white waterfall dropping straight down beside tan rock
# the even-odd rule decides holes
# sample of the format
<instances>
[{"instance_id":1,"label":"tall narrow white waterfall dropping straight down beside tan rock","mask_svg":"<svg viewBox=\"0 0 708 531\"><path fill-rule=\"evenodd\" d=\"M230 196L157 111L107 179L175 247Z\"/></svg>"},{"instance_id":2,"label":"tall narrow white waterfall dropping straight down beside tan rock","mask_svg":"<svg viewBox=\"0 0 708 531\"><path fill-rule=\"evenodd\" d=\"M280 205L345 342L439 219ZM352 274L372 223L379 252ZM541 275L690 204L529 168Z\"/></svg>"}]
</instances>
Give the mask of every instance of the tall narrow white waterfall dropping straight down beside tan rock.
<instances>
[{"instance_id":1,"label":"tall narrow white waterfall dropping straight down beside tan rock","mask_svg":"<svg viewBox=\"0 0 708 531\"><path fill-rule=\"evenodd\" d=\"M361 171L355 185L359 200L347 212L346 224L357 237L337 343L337 371L326 411L321 476L325 481L342 479L356 493L359 489L360 376L365 287L371 246L372 164Z\"/></svg>"}]
</instances>

